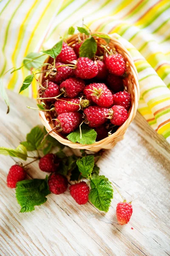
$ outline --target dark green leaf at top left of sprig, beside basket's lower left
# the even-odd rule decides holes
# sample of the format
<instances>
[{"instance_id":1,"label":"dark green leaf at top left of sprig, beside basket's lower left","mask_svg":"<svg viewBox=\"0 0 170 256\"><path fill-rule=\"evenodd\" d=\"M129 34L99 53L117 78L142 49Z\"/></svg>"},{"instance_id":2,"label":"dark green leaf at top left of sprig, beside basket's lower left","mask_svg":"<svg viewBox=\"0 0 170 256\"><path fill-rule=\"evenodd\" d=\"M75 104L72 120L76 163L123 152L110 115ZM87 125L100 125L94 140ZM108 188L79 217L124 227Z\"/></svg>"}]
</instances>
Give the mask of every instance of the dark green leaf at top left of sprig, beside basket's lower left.
<instances>
[{"instance_id":1,"label":"dark green leaf at top left of sprig, beside basket's lower left","mask_svg":"<svg viewBox=\"0 0 170 256\"><path fill-rule=\"evenodd\" d=\"M44 137L44 133L39 126L35 126L31 129L30 133L26 136L26 141L20 144L25 145L28 151L34 151L43 147L44 143L41 143Z\"/></svg>"}]
</instances>

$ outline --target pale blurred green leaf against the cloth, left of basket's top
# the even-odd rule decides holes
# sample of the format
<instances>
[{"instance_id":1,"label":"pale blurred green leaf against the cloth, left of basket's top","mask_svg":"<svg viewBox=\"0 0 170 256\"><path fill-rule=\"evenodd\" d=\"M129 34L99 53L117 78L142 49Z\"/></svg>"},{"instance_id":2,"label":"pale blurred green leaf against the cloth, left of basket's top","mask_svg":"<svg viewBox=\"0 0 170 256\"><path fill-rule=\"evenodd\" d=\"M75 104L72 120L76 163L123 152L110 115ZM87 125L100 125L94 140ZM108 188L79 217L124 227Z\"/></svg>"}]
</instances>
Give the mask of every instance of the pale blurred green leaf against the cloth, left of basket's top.
<instances>
[{"instance_id":1,"label":"pale blurred green leaf against the cloth, left of basket's top","mask_svg":"<svg viewBox=\"0 0 170 256\"><path fill-rule=\"evenodd\" d=\"M44 63L46 58L47 56L45 55L42 56L40 52L30 52L23 59L23 64L28 70L31 70L32 67L34 68L40 67Z\"/></svg>"}]
</instances>

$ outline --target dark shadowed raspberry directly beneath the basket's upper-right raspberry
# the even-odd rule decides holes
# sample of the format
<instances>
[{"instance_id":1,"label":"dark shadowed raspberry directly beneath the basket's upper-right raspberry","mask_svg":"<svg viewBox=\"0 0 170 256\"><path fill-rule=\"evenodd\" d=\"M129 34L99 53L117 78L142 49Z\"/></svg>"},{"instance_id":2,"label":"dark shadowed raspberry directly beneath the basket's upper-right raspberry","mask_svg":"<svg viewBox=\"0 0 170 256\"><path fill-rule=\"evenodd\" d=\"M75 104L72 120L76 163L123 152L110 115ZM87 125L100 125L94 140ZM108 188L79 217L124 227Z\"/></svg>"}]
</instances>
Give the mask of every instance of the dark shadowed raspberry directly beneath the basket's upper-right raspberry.
<instances>
[{"instance_id":1,"label":"dark shadowed raspberry directly beneath the basket's upper-right raspberry","mask_svg":"<svg viewBox=\"0 0 170 256\"><path fill-rule=\"evenodd\" d=\"M107 84L111 87L111 90L113 90L114 93L124 90L123 79L121 76L109 74L107 77Z\"/></svg>"}]
</instances>

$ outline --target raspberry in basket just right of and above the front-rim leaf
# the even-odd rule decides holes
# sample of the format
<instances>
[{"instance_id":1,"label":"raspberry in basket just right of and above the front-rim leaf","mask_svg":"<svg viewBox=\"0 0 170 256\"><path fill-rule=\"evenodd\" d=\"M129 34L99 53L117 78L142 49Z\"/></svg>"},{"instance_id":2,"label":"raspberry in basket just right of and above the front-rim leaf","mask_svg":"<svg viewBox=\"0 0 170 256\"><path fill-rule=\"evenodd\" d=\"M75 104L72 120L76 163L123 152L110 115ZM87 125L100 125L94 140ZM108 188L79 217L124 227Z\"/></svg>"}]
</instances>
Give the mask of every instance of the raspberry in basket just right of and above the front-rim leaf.
<instances>
[{"instance_id":1,"label":"raspberry in basket just right of and above the front-rim leaf","mask_svg":"<svg viewBox=\"0 0 170 256\"><path fill-rule=\"evenodd\" d=\"M91 106L86 108L84 113L88 121L88 125L93 128L107 122L107 118L105 116L108 114L108 111L108 108L102 108L98 106Z\"/></svg>"}]
</instances>

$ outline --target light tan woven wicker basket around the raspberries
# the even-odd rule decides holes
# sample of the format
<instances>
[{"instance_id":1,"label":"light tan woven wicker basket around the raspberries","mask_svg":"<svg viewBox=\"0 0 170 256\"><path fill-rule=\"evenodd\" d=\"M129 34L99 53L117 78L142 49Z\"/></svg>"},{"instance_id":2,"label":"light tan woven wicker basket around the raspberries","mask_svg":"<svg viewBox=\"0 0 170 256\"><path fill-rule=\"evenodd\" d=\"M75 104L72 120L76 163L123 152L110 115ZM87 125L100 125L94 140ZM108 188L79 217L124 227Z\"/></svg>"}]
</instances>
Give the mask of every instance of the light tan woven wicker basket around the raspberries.
<instances>
[{"instance_id":1,"label":"light tan woven wicker basket around the raspberries","mask_svg":"<svg viewBox=\"0 0 170 256\"><path fill-rule=\"evenodd\" d=\"M99 34L99 32L97 33ZM79 34L79 36L80 38L84 39L84 35ZM66 41L70 46L73 46L77 42L77 38L78 38L78 35L72 35L69 38L67 38ZM106 42L102 38L96 37L95 39L98 45L106 44ZM127 127L130 125L130 122L132 122L132 120L136 115L137 106L139 102L139 83L137 79L137 70L134 65L133 59L130 53L127 51L127 49L125 49L125 47L114 37L111 38L110 43L108 44L108 47L110 47L111 49L116 49L118 53L122 54L126 63L126 69L129 75L127 78L124 79L124 84L127 88L127 92L131 94L131 98L132 98L132 106L129 110L129 117L126 120L126 122L118 128L118 130L115 133L108 136L107 138L100 140L98 142L95 142L94 144L91 144L91 145L82 145L79 143L72 143L71 141L63 137L62 134L57 133L55 131L51 131L51 129L54 128L55 125L54 125L54 122L51 121L50 112L40 111L40 119L42 124L45 126L47 132L51 131L50 135L52 137L54 137L60 143L67 145L71 148L86 149L94 152L97 152L100 149L113 148L119 140L123 139L124 134L127 130ZM49 61L49 58L45 60L45 63L47 63L48 61ZM46 67L42 67L42 71L45 69ZM44 76L43 73L41 73L41 76L39 78L40 83L43 82L43 76Z\"/></svg>"}]
</instances>

